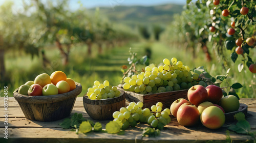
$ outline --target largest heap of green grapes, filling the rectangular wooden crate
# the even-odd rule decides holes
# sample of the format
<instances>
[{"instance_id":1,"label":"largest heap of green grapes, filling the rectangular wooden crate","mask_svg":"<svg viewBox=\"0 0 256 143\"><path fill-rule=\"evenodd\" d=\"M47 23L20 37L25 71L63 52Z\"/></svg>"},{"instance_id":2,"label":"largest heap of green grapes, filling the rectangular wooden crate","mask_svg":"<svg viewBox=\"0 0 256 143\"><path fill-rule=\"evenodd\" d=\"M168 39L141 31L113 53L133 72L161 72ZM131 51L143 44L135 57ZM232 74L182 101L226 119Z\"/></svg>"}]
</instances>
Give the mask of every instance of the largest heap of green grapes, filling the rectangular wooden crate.
<instances>
[{"instance_id":1,"label":"largest heap of green grapes, filling the rectangular wooden crate","mask_svg":"<svg viewBox=\"0 0 256 143\"><path fill-rule=\"evenodd\" d=\"M158 67L154 64L146 66L145 72L124 77L123 81L124 90L140 94L179 91L197 84L206 87L197 73L190 71L176 58L172 58L171 62L164 59Z\"/></svg>"}]
</instances>

